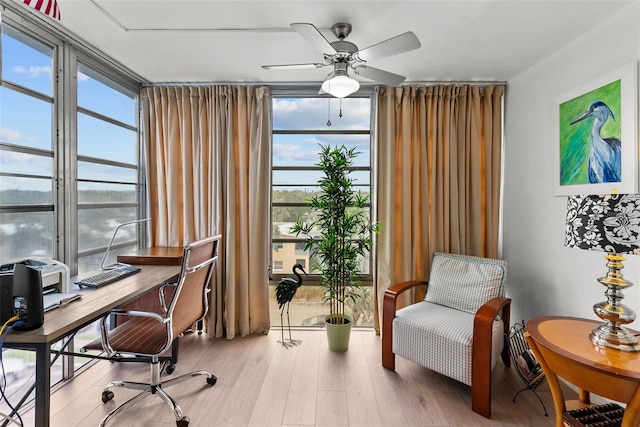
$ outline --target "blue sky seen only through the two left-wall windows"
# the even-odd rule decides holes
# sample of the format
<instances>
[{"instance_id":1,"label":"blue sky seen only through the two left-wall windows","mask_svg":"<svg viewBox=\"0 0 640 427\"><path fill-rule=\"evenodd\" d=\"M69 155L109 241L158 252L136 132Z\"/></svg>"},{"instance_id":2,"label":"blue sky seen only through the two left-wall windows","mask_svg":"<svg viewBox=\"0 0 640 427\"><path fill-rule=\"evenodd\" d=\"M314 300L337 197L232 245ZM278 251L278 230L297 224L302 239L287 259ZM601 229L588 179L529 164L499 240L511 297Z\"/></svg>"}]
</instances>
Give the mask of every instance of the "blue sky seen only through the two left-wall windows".
<instances>
[{"instance_id":1,"label":"blue sky seen only through the two left-wall windows","mask_svg":"<svg viewBox=\"0 0 640 427\"><path fill-rule=\"evenodd\" d=\"M2 78L36 91L38 96L0 88L0 141L52 150L52 101L57 96L52 83L55 79L51 75L52 54L53 50L49 47L3 27ZM90 69L82 65L79 67L76 74L78 105L135 128L136 102L133 94L123 93L122 88L115 90L91 75ZM82 112L77 116L77 127L79 155L136 164L135 130L113 125ZM3 177L0 180L0 190L51 191L53 161L51 155L0 151L0 171L46 178ZM89 162L80 162L78 174L80 178L137 181L135 170ZM105 186L107 187L109 185Z\"/></svg>"}]
</instances>

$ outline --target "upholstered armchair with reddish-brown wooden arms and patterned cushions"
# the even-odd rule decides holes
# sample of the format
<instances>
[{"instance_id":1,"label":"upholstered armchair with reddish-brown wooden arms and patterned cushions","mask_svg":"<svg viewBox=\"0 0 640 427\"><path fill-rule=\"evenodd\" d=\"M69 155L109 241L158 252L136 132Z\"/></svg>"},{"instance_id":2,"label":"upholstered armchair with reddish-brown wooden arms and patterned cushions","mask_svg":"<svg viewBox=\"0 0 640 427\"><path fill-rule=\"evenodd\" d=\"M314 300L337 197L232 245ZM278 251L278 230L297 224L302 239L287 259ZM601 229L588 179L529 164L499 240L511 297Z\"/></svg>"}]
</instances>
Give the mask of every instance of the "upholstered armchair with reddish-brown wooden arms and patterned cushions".
<instances>
[{"instance_id":1,"label":"upholstered armchair with reddish-brown wooden arms and patterned cushions","mask_svg":"<svg viewBox=\"0 0 640 427\"><path fill-rule=\"evenodd\" d=\"M395 371L398 355L467 384L473 411L489 418L491 371L499 355L511 364L506 284L506 261L434 254L428 282L397 283L384 294L382 366ZM423 301L396 308L403 292L420 286Z\"/></svg>"}]
</instances>

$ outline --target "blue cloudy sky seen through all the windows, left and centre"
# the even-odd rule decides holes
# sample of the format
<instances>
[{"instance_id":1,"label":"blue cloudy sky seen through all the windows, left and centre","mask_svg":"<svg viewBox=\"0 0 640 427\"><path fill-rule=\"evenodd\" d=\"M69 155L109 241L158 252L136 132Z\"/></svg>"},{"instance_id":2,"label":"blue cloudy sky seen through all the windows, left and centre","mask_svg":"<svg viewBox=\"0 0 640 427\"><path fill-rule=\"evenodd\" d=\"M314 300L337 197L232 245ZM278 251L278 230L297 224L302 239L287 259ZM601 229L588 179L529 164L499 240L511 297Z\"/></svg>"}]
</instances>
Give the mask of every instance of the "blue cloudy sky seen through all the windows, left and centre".
<instances>
[{"instance_id":1,"label":"blue cloudy sky seen through all the windows, left and centre","mask_svg":"<svg viewBox=\"0 0 640 427\"><path fill-rule=\"evenodd\" d=\"M2 35L2 77L37 91L41 99L7 88L0 88L0 141L25 147L52 150L53 51L4 27ZM136 126L135 98L102 83L91 69L80 65L77 73L78 105L125 125ZM120 88L122 89L122 88ZM340 117L340 113L342 117ZM331 126L327 121L331 121ZM275 130L297 129L339 131L368 130L371 121L368 98L274 98ZM37 123L37 126L34 124ZM78 154L129 164L136 163L136 133L80 112L77 117ZM312 166L318 161L322 145L357 147L361 154L356 166L370 163L369 135L274 135L274 166ZM53 157L0 150L0 171L42 176L43 179L3 177L0 190L28 188L51 190ZM79 178L135 181L135 170L89 162L79 162ZM44 179L46 178L46 179ZM284 173L282 183L300 182L297 174ZM317 182L308 173L305 182ZM368 175L359 179L368 183ZM366 182L365 182L366 181Z\"/></svg>"}]
</instances>

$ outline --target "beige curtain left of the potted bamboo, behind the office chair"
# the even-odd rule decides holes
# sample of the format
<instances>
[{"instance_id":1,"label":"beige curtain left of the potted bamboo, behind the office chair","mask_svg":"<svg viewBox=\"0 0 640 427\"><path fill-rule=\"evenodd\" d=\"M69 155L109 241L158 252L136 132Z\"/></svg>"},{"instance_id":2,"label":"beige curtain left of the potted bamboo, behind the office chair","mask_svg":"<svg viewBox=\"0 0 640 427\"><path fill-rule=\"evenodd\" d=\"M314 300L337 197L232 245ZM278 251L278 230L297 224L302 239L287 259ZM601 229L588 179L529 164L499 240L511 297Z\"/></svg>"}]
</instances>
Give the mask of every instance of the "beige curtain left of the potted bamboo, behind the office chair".
<instances>
[{"instance_id":1,"label":"beige curtain left of the potted bamboo, behind the office chair","mask_svg":"<svg viewBox=\"0 0 640 427\"><path fill-rule=\"evenodd\" d=\"M269 330L268 88L142 91L151 244L223 236L209 336Z\"/></svg>"}]
</instances>

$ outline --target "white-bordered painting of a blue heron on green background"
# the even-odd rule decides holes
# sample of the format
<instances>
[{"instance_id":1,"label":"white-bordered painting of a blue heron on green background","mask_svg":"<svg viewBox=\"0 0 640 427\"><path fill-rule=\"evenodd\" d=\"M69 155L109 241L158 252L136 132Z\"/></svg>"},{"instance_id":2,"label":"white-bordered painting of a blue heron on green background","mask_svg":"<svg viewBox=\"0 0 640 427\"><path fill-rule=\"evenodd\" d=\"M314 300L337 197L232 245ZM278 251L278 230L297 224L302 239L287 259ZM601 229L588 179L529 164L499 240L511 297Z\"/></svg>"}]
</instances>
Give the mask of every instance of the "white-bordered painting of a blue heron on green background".
<instances>
[{"instance_id":1,"label":"white-bordered painting of a blue heron on green background","mask_svg":"<svg viewBox=\"0 0 640 427\"><path fill-rule=\"evenodd\" d=\"M554 102L554 194L635 193L635 62L562 94Z\"/></svg>"}]
</instances>

